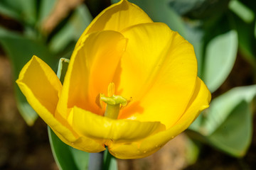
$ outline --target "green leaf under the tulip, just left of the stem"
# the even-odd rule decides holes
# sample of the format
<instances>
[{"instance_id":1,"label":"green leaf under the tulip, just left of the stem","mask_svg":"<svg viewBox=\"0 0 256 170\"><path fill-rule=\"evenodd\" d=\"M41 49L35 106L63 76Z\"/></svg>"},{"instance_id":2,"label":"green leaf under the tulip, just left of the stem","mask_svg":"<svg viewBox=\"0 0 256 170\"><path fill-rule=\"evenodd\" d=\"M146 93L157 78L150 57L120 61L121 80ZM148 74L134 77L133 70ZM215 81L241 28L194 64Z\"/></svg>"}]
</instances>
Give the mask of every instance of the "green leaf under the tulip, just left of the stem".
<instances>
[{"instance_id":1,"label":"green leaf under the tulip, just left of the stem","mask_svg":"<svg viewBox=\"0 0 256 170\"><path fill-rule=\"evenodd\" d=\"M87 169L89 153L82 152L78 149L70 147L62 142L57 135L48 127L48 135L50 147L53 157L59 169L63 170L82 170Z\"/></svg>"}]
</instances>

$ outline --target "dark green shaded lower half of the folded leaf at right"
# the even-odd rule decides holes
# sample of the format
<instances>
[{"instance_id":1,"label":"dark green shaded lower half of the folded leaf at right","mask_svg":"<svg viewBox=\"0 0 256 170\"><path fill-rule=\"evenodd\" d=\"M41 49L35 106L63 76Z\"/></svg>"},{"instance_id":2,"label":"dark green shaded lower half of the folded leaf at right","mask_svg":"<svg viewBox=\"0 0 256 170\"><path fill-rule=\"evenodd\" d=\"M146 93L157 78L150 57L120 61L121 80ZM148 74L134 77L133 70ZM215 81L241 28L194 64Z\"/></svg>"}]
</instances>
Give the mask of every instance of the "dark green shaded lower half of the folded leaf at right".
<instances>
[{"instance_id":1,"label":"dark green shaded lower half of the folded leaf at right","mask_svg":"<svg viewBox=\"0 0 256 170\"><path fill-rule=\"evenodd\" d=\"M241 101L225 122L208 136L210 143L235 157L245 155L252 140L252 111Z\"/></svg>"}]
</instances>

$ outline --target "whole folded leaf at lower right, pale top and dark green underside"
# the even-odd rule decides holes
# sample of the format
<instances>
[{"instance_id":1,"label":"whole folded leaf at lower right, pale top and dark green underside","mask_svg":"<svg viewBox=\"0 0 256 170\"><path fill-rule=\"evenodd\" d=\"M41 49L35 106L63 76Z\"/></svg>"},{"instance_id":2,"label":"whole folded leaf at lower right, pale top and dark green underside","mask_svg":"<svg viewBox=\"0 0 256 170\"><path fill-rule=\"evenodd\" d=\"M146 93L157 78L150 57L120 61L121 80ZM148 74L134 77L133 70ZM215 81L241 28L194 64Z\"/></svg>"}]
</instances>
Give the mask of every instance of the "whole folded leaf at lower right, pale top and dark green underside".
<instances>
[{"instance_id":1,"label":"whole folded leaf at lower right, pale top and dark green underside","mask_svg":"<svg viewBox=\"0 0 256 170\"><path fill-rule=\"evenodd\" d=\"M203 142L242 157L252 137L250 103L255 96L256 85L231 89L213 99L210 108L201 114L190 130L199 132Z\"/></svg>"}]
</instances>

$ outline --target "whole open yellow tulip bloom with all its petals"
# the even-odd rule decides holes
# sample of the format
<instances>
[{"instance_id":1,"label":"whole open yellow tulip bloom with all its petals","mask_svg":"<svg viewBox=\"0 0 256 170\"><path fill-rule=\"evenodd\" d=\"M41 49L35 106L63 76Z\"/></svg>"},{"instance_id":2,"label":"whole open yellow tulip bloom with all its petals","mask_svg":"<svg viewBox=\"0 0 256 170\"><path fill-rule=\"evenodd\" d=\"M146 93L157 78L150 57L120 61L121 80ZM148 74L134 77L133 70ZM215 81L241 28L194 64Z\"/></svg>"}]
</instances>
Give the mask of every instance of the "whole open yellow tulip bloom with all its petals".
<instances>
[{"instance_id":1,"label":"whole open yellow tulip bloom with all its petals","mask_svg":"<svg viewBox=\"0 0 256 170\"><path fill-rule=\"evenodd\" d=\"M16 82L60 140L120 159L153 154L210 102L193 46L126 0L82 33L63 85L36 56Z\"/></svg>"}]
</instances>

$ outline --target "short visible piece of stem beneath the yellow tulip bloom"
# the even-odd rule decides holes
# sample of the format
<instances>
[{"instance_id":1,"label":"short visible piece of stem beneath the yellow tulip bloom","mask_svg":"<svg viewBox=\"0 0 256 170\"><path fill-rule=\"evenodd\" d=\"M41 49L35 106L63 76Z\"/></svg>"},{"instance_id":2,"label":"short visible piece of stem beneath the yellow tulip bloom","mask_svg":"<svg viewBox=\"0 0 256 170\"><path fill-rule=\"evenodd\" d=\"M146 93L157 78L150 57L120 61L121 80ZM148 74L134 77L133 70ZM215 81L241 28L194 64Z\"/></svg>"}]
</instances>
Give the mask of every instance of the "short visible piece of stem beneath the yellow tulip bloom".
<instances>
[{"instance_id":1,"label":"short visible piece of stem beneath the yellow tulip bloom","mask_svg":"<svg viewBox=\"0 0 256 170\"><path fill-rule=\"evenodd\" d=\"M88 170L103 169L104 152L90 153Z\"/></svg>"}]
</instances>

